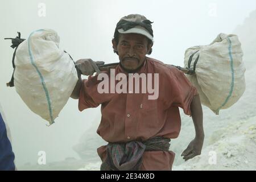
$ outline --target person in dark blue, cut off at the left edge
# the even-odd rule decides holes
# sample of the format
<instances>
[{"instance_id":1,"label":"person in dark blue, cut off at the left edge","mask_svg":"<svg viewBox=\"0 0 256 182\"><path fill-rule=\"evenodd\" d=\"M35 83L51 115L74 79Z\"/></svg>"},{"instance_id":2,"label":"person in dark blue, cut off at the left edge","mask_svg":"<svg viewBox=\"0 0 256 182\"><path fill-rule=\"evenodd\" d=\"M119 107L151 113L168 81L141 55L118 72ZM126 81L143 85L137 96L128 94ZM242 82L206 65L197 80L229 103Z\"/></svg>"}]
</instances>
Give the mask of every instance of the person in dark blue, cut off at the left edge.
<instances>
[{"instance_id":1,"label":"person in dark blue, cut off at the left edge","mask_svg":"<svg viewBox=\"0 0 256 182\"><path fill-rule=\"evenodd\" d=\"M15 170L14 153L9 140L10 136L7 136L7 129L5 126L2 107L0 105L0 171Z\"/></svg>"}]
</instances>

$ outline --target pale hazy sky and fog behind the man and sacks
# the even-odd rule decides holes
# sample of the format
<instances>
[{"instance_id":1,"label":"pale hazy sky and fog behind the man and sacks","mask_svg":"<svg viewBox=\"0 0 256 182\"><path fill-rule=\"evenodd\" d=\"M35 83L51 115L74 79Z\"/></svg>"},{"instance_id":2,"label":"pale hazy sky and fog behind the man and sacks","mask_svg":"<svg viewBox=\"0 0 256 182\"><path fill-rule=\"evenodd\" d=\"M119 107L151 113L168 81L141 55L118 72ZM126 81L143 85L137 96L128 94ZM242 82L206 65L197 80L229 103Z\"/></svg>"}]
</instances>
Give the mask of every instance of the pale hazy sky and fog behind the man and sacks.
<instances>
[{"instance_id":1,"label":"pale hazy sky and fog behind the man and sacks","mask_svg":"<svg viewBox=\"0 0 256 182\"><path fill-rule=\"evenodd\" d=\"M46 5L46 16L39 16L39 3ZM154 46L150 57L183 66L185 49L209 44L220 33L231 34L249 13L255 0L238 1L3 1L0 6L0 102L13 137L16 163L36 163L38 151L47 153L47 162L77 158L72 146L92 122L99 122L100 108L80 113L77 101L69 100L56 123L32 113L15 88L7 88L13 69L13 49L6 37L51 28L60 36L60 46L77 60L91 58L106 63L118 61L111 40L116 23L128 14L143 14L153 21Z\"/></svg>"}]
</instances>

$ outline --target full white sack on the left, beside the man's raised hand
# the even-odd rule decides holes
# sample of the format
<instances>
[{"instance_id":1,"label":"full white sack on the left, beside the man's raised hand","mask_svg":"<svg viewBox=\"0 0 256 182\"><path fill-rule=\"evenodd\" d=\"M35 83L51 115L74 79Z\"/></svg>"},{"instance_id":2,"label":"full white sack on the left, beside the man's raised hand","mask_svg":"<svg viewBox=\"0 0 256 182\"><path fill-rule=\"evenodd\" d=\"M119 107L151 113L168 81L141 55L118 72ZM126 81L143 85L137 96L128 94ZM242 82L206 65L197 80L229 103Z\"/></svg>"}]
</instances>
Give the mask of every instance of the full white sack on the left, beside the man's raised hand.
<instances>
[{"instance_id":1,"label":"full white sack on the left, beside the man's raised hand","mask_svg":"<svg viewBox=\"0 0 256 182\"><path fill-rule=\"evenodd\" d=\"M50 124L67 103L78 80L73 60L59 47L53 30L36 30L16 50L14 86L34 113Z\"/></svg>"}]
</instances>

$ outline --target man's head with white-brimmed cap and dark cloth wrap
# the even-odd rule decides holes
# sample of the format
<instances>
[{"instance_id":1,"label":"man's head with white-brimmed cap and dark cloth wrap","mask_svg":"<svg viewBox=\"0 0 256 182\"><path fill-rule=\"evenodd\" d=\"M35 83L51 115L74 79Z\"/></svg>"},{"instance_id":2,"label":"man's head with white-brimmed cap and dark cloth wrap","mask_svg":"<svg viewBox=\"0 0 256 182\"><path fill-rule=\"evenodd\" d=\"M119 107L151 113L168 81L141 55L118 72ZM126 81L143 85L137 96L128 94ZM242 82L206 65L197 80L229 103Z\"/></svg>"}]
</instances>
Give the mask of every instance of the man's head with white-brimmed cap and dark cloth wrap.
<instances>
[{"instance_id":1,"label":"man's head with white-brimmed cap and dark cloth wrap","mask_svg":"<svg viewBox=\"0 0 256 182\"><path fill-rule=\"evenodd\" d=\"M153 46L153 31L150 20L138 14L131 14L119 20L112 40L114 52L119 56L122 67L134 72L150 55Z\"/></svg>"}]
</instances>

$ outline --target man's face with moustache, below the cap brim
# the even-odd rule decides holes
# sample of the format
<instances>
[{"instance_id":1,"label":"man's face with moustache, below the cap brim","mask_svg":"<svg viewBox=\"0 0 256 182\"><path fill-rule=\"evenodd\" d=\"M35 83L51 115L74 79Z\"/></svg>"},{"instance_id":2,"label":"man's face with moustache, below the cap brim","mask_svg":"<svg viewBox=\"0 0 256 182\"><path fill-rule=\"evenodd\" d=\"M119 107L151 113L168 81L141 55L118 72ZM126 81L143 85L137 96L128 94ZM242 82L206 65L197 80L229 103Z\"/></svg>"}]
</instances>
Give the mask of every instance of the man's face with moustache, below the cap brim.
<instances>
[{"instance_id":1,"label":"man's face with moustache, below the cap brim","mask_svg":"<svg viewBox=\"0 0 256 182\"><path fill-rule=\"evenodd\" d=\"M139 68L151 47L146 36L140 34L119 34L118 44L113 41L113 48L117 49L120 63L127 71Z\"/></svg>"}]
</instances>

